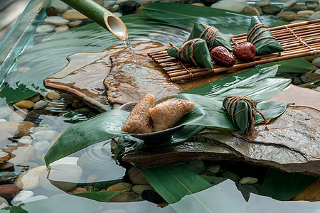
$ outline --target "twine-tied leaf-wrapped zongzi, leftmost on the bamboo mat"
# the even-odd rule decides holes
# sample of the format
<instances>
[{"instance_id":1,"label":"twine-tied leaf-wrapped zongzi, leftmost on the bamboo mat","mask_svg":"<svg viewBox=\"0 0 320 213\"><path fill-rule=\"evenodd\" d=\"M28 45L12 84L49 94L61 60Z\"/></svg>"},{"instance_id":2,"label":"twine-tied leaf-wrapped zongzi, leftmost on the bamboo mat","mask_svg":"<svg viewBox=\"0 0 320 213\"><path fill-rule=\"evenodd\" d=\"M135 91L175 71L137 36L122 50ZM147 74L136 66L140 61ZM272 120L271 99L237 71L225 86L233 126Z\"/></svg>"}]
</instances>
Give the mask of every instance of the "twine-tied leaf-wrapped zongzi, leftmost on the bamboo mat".
<instances>
[{"instance_id":1,"label":"twine-tied leaf-wrapped zongzi, leftmost on the bamboo mat","mask_svg":"<svg viewBox=\"0 0 320 213\"><path fill-rule=\"evenodd\" d=\"M188 40L181 47L176 47L171 42L169 44L171 48L167 52L172 57L200 67L213 68L206 40L200 38Z\"/></svg>"}]
</instances>

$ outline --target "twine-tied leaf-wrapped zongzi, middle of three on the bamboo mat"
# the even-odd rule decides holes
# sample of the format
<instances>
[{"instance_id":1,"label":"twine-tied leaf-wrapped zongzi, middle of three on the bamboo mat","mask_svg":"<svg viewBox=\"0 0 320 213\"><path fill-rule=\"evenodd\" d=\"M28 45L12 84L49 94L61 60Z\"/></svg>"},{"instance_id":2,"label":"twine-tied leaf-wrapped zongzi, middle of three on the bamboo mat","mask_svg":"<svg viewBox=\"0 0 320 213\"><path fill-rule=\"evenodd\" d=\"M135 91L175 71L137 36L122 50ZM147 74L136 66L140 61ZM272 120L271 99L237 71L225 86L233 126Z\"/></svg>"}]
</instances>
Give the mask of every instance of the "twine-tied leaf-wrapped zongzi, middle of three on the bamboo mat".
<instances>
[{"instance_id":1,"label":"twine-tied leaf-wrapped zongzi, middle of three on the bamboo mat","mask_svg":"<svg viewBox=\"0 0 320 213\"><path fill-rule=\"evenodd\" d=\"M220 33L217 28L209 26L206 23L194 23L188 40L194 38L202 38L206 40L209 50L212 50L214 47L223 46L230 52L233 51L233 48L231 47L230 36Z\"/></svg>"}]
</instances>

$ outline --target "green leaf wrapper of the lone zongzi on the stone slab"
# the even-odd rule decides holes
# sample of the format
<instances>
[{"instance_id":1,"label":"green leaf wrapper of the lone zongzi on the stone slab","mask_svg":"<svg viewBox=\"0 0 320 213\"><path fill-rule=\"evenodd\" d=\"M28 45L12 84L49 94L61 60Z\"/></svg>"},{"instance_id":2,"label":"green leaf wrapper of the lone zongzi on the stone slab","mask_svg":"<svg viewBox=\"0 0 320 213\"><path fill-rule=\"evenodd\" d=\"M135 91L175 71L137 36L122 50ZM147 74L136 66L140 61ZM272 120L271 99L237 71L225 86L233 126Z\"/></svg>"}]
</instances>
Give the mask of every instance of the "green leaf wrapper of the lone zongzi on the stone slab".
<instances>
[{"instance_id":1,"label":"green leaf wrapper of the lone zongzi on the stone slab","mask_svg":"<svg viewBox=\"0 0 320 213\"><path fill-rule=\"evenodd\" d=\"M228 98L223 104L225 109L227 109L229 100L230 98ZM239 127L243 135L246 135L252 124L253 113L251 104L247 102L247 100L241 99L235 107L235 102L233 102L230 106L230 114L235 114L235 125ZM232 116L230 117L232 118Z\"/></svg>"}]
</instances>

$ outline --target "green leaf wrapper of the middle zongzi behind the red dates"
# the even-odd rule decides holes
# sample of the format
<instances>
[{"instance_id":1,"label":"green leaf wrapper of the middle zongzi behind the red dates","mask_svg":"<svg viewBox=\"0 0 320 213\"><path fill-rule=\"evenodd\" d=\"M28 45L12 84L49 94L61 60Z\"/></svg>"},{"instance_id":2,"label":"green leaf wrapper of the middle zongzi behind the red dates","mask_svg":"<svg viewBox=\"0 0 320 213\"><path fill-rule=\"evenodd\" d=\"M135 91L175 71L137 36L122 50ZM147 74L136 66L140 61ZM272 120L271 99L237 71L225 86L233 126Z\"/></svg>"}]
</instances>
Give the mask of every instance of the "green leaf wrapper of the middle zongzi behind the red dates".
<instances>
[{"instance_id":1,"label":"green leaf wrapper of the middle zongzi behind the red dates","mask_svg":"<svg viewBox=\"0 0 320 213\"><path fill-rule=\"evenodd\" d=\"M203 33L203 31L208 28L209 25L206 23L199 23L196 22L194 23L194 26L192 28L192 31L189 35L188 40L194 39L194 38L200 38L201 33ZM208 32L204 33L202 38L204 39L206 37ZM213 45L210 45L211 43L211 39L207 40L207 45L209 50L213 49L214 47L217 46L223 46L225 48L227 48L230 52L233 51L233 48L231 47L231 38L228 35L225 35L224 33L221 33L220 31L217 32L217 35L215 37L215 41L213 42Z\"/></svg>"}]
</instances>

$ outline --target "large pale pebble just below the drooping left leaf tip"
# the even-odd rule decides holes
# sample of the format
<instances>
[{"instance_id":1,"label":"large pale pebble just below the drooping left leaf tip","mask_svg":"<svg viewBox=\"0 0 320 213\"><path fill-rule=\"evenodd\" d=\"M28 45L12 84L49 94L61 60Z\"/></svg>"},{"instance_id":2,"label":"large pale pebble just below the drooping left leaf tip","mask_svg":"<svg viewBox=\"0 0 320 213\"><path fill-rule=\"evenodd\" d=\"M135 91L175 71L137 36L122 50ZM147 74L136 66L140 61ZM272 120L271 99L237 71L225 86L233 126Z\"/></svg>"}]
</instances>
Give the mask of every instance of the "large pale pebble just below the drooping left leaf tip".
<instances>
[{"instance_id":1,"label":"large pale pebble just below the drooping left leaf tip","mask_svg":"<svg viewBox=\"0 0 320 213\"><path fill-rule=\"evenodd\" d=\"M50 182L60 190L72 190L78 185L82 175L82 168L78 165L59 164L51 166L48 174Z\"/></svg>"}]
</instances>

